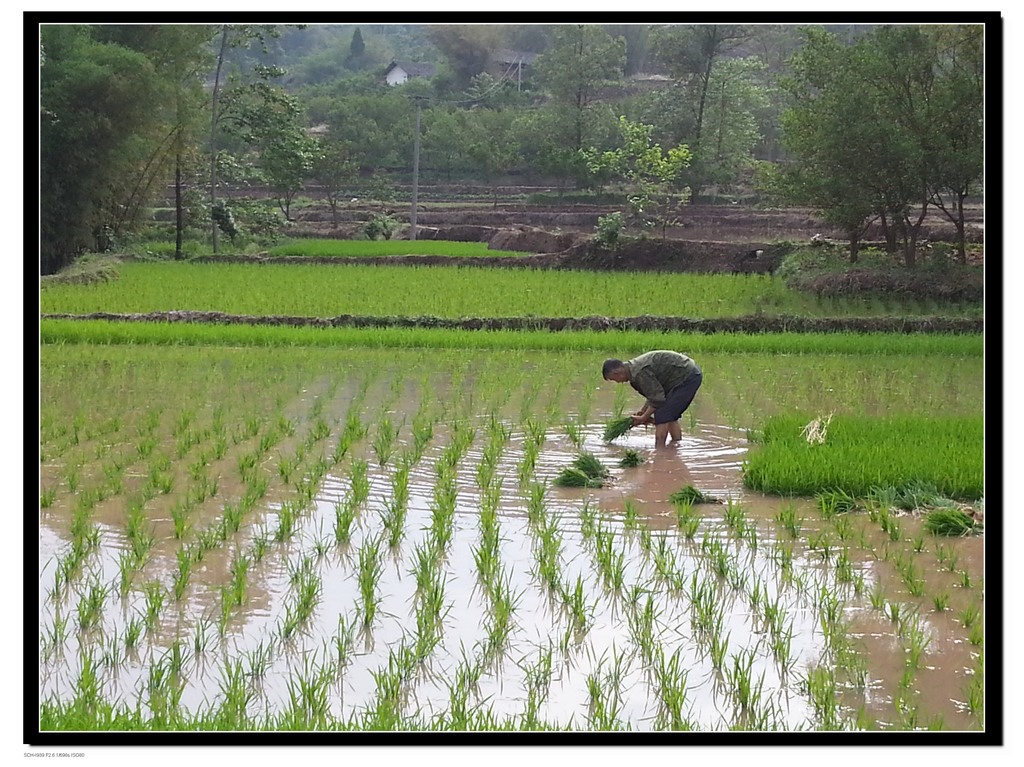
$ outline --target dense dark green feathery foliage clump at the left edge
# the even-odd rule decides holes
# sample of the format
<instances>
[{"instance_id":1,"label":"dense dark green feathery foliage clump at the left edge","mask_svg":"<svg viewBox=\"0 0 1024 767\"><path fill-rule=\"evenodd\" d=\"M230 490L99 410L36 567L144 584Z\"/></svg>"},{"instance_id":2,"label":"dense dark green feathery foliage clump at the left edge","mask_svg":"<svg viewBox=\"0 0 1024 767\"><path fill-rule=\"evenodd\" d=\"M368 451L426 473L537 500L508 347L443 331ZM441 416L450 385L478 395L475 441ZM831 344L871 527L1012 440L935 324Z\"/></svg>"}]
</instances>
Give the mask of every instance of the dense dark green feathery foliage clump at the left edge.
<instances>
[{"instance_id":1,"label":"dense dark green feathery foliage clump at the left edge","mask_svg":"<svg viewBox=\"0 0 1024 767\"><path fill-rule=\"evenodd\" d=\"M172 157L173 91L140 51L44 25L40 44L40 269L127 230Z\"/></svg>"}]
</instances>

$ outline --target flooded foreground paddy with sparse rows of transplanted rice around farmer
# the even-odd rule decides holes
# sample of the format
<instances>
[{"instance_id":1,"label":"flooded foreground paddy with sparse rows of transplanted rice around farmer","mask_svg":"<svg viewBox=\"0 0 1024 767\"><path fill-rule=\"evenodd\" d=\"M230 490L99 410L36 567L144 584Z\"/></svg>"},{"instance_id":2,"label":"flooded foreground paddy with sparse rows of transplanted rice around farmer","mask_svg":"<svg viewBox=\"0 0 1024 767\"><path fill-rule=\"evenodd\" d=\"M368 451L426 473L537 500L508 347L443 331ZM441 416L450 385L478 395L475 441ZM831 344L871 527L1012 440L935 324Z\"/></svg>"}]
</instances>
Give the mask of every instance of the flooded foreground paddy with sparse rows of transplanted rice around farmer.
<instances>
[{"instance_id":1,"label":"flooded foreground paddy with sparse rows of transplanted rice around farmer","mask_svg":"<svg viewBox=\"0 0 1024 767\"><path fill-rule=\"evenodd\" d=\"M654 451L602 441L610 383L378 373L232 379L159 417L125 390L137 413L75 441L44 394L41 699L237 728L983 728L983 537L745 491L713 379ZM581 451L605 485L554 486ZM671 503L686 485L721 503Z\"/></svg>"}]
</instances>

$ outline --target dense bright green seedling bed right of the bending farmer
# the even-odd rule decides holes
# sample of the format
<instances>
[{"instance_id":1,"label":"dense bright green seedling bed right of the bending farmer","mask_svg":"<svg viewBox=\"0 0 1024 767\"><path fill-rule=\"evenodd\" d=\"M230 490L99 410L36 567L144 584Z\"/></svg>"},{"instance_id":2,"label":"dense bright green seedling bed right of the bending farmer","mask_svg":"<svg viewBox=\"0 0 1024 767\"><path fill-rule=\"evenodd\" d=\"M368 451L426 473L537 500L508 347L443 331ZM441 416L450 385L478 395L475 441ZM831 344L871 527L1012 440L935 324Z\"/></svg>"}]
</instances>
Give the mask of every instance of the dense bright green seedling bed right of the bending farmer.
<instances>
[{"instance_id":1,"label":"dense bright green seedling bed right of the bending farmer","mask_svg":"<svg viewBox=\"0 0 1024 767\"><path fill-rule=\"evenodd\" d=\"M872 487L931 482L956 499L984 495L984 420L981 416L891 416L833 419L826 434L801 416L769 419L743 467L746 486L776 495L842 491L866 496Z\"/></svg>"}]
</instances>

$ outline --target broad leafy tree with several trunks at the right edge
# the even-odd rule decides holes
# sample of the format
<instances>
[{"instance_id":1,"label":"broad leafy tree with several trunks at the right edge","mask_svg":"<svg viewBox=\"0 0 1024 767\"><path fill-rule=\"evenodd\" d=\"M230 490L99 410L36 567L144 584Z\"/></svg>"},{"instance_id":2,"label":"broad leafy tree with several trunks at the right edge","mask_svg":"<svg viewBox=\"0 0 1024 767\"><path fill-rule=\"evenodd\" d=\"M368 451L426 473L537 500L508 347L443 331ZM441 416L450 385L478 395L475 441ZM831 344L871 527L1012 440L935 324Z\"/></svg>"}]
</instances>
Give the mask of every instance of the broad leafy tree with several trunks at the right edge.
<instances>
[{"instance_id":1,"label":"broad leafy tree with several trunks at the right edge","mask_svg":"<svg viewBox=\"0 0 1024 767\"><path fill-rule=\"evenodd\" d=\"M921 27L882 27L844 45L809 30L784 81L795 199L847 221L848 231L856 218L849 211L869 208L907 266L916 263L929 205L945 195L962 216L981 171L980 57L951 68L938 39ZM969 60L972 49L962 51Z\"/></svg>"}]
</instances>

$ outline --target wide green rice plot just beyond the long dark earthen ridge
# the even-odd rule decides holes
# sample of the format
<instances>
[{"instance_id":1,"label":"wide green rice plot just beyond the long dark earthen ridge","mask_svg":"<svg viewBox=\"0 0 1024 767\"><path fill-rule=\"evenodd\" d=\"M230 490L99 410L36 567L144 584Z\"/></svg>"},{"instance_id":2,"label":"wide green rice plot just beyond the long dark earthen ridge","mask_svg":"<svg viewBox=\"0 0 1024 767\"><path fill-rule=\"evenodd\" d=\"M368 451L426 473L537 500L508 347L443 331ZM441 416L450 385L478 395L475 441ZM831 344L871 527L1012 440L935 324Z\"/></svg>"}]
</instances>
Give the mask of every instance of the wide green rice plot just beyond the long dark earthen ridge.
<instances>
[{"instance_id":1,"label":"wide green rice plot just beyond the long dark earthen ridge","mask_svg":"<svg viewBox=\"0 0 1024 767\"><path fill-rule=\"evenodd\" d=\"M865 316L873 307L852 298L822 299L766 274L663 273L629 302L630 273L471 266L124 263L119 280L98 285L54 285L40 293L43 312L139 313L201 310L232 314L435 317ZM430 290L424 290L430 286ZM386 311L382 312L382 308ZM912 300L892 312L925 313ZM950 305L946 315L981 313L980 305Z\"/></svg>"}]
</instances>

